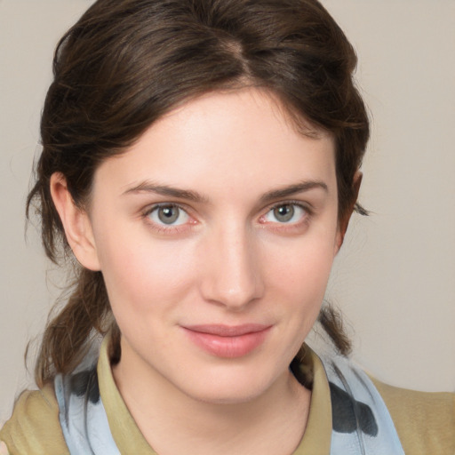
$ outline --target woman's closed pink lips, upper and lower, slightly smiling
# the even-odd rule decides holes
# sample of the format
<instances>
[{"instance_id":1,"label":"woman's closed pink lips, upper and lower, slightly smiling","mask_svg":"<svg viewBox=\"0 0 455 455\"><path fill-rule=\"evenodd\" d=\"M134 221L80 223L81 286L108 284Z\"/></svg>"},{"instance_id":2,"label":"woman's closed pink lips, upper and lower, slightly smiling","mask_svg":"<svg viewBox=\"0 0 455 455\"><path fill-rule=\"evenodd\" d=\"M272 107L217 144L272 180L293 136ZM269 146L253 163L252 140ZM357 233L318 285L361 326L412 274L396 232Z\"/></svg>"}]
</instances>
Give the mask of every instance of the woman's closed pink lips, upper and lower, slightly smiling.
<instances>
[{"instance_id":1,"label":"woman's closed pink lips, upper and lower, slightly smiling","mask_svg":"<svg viewBox=\"0 0 455 455\"><path fill-rule=\"evenodd\" d=\"M210 355L225 358L250 354L267 338L270 325L247 323L242 325L204 324L182 327L188 338Z\"/></svg>"}]
</instances>

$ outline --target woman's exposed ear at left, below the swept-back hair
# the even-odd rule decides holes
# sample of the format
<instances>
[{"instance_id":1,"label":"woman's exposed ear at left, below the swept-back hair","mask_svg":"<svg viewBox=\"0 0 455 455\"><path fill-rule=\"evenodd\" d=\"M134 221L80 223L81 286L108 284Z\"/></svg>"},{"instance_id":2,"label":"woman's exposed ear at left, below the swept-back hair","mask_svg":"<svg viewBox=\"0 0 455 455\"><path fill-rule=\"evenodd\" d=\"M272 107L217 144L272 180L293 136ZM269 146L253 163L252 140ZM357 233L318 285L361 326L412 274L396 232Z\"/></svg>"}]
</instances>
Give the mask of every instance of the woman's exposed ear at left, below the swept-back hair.
<instances>
[{"instance_id":1,"label":"woman's exposed ear at left, below the swept-back hair","mask_svg":"<svg viewBox=\"0 0 455 455\"><path fill-rule=\"evenodd\" d=\"M77 207L69 194L67 180L60 172L51 176L52 201L59 212L69 247L79 263L93 271L100 270L100 261L93 237L92 222L87 212Z\"/></svg>"}]
</instances>

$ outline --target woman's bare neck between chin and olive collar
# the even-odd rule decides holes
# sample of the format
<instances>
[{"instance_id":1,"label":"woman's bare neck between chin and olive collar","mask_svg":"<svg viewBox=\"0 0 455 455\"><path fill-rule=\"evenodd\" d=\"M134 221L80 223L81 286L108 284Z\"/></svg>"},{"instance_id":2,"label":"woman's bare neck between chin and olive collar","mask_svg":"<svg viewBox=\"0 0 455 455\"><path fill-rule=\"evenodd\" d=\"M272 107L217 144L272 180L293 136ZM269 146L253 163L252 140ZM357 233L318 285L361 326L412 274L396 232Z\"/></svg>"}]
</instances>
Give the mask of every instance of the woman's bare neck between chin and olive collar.
<instances>
[{"instance_id":1,"label":"woman's bare neck between chin and olive collar","mask_svg":"<svg viewBox=\"0 0 455 455\"><path fill-rule=\"evenodd\" d=\"M116 385L159 455L289 455L299 445L311 394L289 370L248 401L207 403L174 387L157 371L138 374L129 363L122 358L113 368Z\"/></svg>"}]
</instances>

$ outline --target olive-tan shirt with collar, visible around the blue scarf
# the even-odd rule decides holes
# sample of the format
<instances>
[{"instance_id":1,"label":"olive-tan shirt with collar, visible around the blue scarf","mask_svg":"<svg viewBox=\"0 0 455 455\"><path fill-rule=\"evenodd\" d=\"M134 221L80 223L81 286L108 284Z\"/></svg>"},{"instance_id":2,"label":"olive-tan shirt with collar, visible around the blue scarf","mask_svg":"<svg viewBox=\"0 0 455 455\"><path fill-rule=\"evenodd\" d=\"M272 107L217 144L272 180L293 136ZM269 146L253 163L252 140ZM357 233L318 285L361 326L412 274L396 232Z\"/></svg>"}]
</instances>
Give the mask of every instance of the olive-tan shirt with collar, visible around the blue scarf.
<instances>
[{"instance_id":1,"label":"olive-tan shirt with collar, visible around the blue scarf","mask_svg":"<svg viewBox=\"0 0 455 455\"><path fill-rule=\"evenodd\" d=\"M120 395L108 359L107 341L100 350L98 378L109 427L123 455L156 455L132 419ZM314 385L305 435L293 455L330 455L331 395L323 364L311 352ZM406 454L455 454L455 394L422 393L390 387L372 379L387 404ZM10 455L66 455L52 384L20 395L2 430ZM8 453L3 449L4 453ZM0 447L0 455L3 455Z\"/></svg>"}]
</instances>

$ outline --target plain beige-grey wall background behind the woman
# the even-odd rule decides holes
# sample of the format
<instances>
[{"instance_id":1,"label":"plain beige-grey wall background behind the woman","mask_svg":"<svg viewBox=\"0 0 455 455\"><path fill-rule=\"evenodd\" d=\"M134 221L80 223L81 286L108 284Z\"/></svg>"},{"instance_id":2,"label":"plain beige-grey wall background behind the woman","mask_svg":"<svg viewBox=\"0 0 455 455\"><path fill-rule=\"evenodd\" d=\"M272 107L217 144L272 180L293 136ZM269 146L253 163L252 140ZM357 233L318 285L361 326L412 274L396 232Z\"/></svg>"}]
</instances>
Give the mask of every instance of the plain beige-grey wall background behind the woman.
<instances>
[{"instance_id":1,"label":"plain beige-grey wall background behind the woman","mask_svg":"<svg viewBox=\"0 0 455 455\"><path fill-rule=\"evenodd\" d=\"M0 0L0 420L58 294L23 207L52 50L89 4ZM323 4L357 49L373 120L361 192L372 214L351 223L328 297L379 379L455 390L455 2Z\"/></svg>"}]
</instances>

